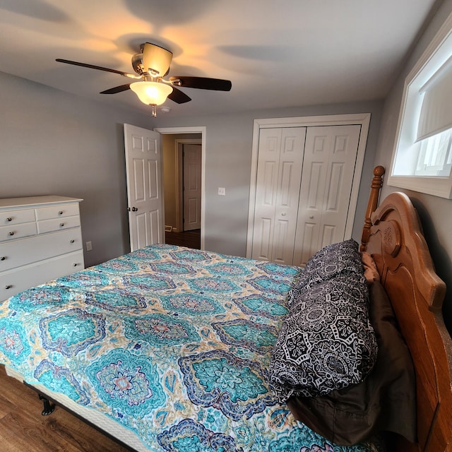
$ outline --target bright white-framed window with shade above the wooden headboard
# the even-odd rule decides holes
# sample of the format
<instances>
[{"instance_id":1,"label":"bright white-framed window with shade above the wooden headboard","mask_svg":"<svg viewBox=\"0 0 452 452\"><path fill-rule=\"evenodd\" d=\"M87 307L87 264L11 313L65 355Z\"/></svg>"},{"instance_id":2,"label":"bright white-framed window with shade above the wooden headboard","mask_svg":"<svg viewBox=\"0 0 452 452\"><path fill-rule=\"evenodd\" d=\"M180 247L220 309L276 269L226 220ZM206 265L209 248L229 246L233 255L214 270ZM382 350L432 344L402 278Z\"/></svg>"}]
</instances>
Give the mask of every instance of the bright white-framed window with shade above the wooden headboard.
<instances>
[{"instance_id":1,"label":"bright white-framed window with shade above the wooden headboard","mask_svg":"<svg viewBox=\"0 0 452 452\"><path fill-rule=\"evenodd\" d=\"M452 14L405 81L388 184L452 198Z\"/></svg>"}]
</instances>

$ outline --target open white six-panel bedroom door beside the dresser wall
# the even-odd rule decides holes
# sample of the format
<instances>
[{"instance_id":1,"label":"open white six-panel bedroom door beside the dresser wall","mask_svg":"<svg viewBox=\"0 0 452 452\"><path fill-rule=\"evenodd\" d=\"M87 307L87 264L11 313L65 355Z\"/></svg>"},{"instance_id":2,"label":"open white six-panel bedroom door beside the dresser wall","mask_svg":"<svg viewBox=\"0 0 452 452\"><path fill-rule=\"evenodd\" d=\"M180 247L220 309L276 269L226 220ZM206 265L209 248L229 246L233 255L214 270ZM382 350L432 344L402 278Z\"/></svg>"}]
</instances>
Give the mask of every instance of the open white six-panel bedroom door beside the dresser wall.
<instances>
[{"instance_id":1,"label":"open white six-panel bedroom door beside the dresser wall","mask_svg":"<svg viewBox=\"0 0 452 452\"><path fill-rule=\"evenodd\" d=\"M124 124L131 251L164 240L160 133Z\"/></svg>"}]
</instances>

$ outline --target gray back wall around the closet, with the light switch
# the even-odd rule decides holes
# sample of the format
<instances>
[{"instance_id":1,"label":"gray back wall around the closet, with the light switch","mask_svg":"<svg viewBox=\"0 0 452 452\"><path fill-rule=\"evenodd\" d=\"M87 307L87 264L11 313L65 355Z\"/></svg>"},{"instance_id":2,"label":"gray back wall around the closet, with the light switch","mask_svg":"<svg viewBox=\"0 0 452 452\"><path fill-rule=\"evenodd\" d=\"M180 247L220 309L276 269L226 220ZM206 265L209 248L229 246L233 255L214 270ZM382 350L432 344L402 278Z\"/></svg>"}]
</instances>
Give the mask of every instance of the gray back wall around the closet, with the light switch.
<instances>
[{"instance_id":1,"label":"gray back wall around the closet, with the light switch","mask_svg":"<svg viewBox=\"0 0 452 452\"><path fill-rule=\"evenodd\" d=\"M215 117L158 117L154 127L206 126L206 249L245 256L254 119L371 113L362 183L352 237L361 239L383 102L270 109ZM226 196L218 196L218 187Z\"/></svg>"}]
</instances>

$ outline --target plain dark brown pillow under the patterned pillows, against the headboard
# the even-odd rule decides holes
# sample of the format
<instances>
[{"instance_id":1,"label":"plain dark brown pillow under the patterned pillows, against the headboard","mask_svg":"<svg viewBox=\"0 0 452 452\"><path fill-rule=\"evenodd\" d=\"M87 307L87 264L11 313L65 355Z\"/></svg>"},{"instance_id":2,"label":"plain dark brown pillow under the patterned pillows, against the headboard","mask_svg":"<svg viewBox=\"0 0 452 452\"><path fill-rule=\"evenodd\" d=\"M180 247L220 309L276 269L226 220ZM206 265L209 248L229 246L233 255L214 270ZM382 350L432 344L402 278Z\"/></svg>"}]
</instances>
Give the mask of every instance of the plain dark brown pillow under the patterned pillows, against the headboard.
<instances>
[{"instance_id":1,"label":"plain dark brown pillow under the patterned pillows, against the headboard","mask_svg":"<svg viewBox=\"0 0 452 452\"><path fill-rule=\"evenodd\" d=\"M383 286L376 281L370 291L369 314L379 351L369 376L326 396L291 398L287 405L295 419L340 446L358 444L381 431L415 443L416 382L410 351Z\"/></svg>"}]
</instances>

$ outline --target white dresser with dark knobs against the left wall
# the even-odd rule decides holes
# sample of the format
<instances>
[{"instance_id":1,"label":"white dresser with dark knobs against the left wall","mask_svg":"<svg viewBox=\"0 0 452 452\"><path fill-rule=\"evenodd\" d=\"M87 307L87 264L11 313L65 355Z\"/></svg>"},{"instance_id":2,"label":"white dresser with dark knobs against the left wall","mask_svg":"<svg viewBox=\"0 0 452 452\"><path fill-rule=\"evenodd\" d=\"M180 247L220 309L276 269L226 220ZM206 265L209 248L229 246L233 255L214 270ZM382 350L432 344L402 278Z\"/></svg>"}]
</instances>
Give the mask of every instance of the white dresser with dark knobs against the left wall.
<instances>
[{"instance_id":1,"label":"white dresser with dark knobs against the left wall","mask_svg":"<svg viewBox=\"0 0 452 452\"><path fill-rule=\"evenodd\" d=\"M0 300L85 267L81 201L64 196L0 199Z\"/></svg>"}]
</instances>

